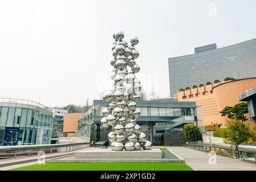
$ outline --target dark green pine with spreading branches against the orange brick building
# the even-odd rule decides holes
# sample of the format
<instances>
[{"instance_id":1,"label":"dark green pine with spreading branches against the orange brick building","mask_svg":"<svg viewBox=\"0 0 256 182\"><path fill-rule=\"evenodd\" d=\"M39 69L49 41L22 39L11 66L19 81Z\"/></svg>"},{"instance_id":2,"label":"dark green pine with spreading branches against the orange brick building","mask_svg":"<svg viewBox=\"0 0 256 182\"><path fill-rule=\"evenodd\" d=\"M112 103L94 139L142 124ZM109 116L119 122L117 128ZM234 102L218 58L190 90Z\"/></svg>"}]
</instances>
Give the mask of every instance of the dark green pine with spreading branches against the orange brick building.
<instances>
[{"instance_id":1,"label":"dark green pine with spreading branches against the orange brick building","mask_svg":"<svg viewBox=\"0 0 256 182\"><path fill-rule=\"evenodd\" d=\"M226 106L220 111L221 116L227 116L229 119L238 119L242 122L247 121L245 114L248 113L248 106L246 102L240 102L233 107Z\"/></svg>"}]
</instances>

